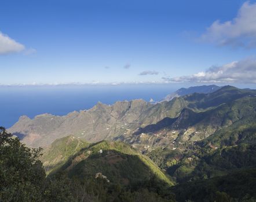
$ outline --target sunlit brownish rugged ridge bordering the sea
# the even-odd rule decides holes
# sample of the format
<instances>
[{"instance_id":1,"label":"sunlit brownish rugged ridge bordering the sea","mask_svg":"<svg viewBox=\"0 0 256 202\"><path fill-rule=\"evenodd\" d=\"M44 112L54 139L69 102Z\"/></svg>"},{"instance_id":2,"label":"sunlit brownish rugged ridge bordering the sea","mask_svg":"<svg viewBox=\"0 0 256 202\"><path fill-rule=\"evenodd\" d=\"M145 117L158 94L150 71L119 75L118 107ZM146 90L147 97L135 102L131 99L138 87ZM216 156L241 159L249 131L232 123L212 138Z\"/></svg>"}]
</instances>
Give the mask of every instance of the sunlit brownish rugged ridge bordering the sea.
<instances>
[{"instance_id":1,"label":"sunlit brownish rugged ridge bordering the sea","mask_svg":"<svg viewBox=\"0 0 256 202\"><path fill-rule=\"evenodd\" d=\"M164 104L144 100L116 102L112 106L98 103L90 110L74 111L62 117L42 114L30 119L23 116L8 131L30 147L47 147L70 134L90 142L114 140L133 133L138 127L175 117L184 107L182 99Z\"/></svg>"}]
</instances>

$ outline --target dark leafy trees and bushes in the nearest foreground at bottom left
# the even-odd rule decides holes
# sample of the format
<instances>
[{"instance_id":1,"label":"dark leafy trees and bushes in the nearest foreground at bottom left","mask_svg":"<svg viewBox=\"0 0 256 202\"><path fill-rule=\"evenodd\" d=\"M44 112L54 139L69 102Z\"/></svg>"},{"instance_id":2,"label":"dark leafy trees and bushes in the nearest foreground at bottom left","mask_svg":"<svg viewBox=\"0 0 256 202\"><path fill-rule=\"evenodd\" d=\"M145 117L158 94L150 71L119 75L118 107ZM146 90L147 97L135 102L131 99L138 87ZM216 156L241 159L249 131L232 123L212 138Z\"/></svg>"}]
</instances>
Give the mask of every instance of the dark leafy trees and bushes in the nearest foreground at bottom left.
<instances>
[{"instance_id":1,"label":"dark leafy trees and bushes in the nearest foreground at bottom left","mask_svg":"<svg viewBox=\"0 0 256 202\"><path fill-rule=\"evenodd\" d=\"M113 144L116 150L134 153L124 144ZM101 142L91 148L97 151L98 147L106 149L109 145ZM101 177L68 177L61 171L46 177L40 152L41 149L25 147L0 128L0 201L174 201L169 184L153 173L134 182L132 188Z\"/></svg>"}]
</instances>

